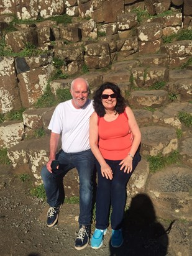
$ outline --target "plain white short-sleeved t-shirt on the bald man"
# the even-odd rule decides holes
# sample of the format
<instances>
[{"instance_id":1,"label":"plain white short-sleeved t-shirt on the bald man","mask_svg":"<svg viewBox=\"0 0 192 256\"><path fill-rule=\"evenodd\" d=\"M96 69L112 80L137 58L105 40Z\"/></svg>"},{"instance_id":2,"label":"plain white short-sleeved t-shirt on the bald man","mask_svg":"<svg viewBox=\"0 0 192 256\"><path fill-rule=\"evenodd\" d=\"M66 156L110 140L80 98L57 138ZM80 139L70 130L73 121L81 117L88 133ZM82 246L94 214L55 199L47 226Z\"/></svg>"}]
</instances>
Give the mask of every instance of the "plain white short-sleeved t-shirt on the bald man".
<instances>
[{"instance_id":1,"label":"plain white short-sleeved t-shirt on the bald man","mask_svg":"<svg viewBox=\"0 0 192 256\"><path fill-rule=\"evenodd\" d=\"M62 149L64 152L76 153L90 149L89 118L93 112L91 99L88 99L81 109L76 109L71 99L58 104L55 108L48 129L56 134L62 132Z\"/></svg>"}]
</instances>

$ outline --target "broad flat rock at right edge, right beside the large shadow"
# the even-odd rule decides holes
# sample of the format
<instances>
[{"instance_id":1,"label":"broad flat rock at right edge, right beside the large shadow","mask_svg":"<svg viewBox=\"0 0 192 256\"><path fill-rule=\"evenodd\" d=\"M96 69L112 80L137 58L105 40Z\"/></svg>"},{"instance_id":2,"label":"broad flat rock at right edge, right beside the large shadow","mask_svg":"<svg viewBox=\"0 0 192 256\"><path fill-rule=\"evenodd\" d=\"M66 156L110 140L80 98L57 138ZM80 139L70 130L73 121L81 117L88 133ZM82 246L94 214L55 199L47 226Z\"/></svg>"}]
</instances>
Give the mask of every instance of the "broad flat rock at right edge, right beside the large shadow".
<instances>
[{"instance_id":1,"label":"broad flat rock at right edge, right beside the large shadow","mask_svg":"<svg viewBox=\"0 0 192 256\"><path fill-rule=\"evenodd\" d=\"M167 167L151 175L147 181L147 193L157 216L192 221L191 184L191 170L185 166Z\"/></svg>"}]
</instances>

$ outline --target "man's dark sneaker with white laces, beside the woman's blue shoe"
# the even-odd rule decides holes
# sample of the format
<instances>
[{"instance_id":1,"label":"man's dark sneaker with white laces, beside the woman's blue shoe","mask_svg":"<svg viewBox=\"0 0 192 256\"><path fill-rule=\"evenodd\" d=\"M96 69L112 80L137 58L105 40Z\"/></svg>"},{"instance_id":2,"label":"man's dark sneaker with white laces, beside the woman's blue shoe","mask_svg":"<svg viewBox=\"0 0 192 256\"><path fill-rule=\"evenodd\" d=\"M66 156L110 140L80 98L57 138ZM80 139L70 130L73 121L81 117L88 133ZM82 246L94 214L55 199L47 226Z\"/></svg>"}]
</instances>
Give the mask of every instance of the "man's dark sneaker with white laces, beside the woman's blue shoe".
<instances>
[{"instance_id":1,"label":"man's dark sneaker with white laces, beside the woman's blue shoe","mask_svg":"<svg viewBox=\"0 0 192 256\"><path fill-rule=\"evenodd\" d=\"M90 233L91 233L91 226L80 225L80 230L75 240L76 250L82 250L89 244Z\"/></svg>"}]
</instances>

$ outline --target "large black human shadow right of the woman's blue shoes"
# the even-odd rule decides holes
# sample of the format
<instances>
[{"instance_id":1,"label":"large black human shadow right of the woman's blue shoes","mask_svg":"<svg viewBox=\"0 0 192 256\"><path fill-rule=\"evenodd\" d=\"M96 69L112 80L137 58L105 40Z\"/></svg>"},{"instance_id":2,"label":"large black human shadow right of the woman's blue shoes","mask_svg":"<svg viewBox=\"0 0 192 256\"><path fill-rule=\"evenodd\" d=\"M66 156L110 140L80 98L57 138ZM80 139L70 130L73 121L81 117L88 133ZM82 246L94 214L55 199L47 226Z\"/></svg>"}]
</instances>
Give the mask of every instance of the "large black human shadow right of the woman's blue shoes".
<instances>
[{"instance_id":1,"label":"large black human shadow right of the woman's blue shoes","mask_svg":"<svg viewBox=\"0 0 192 256\"><path fill-rule=\"evenodd\" d=\"M126 211L123 228L124 243L119 248L111 246L110 256L165 256L168 235L157 221L155 209L147 194L137 194Z\"/></svg>"}]
</instances>

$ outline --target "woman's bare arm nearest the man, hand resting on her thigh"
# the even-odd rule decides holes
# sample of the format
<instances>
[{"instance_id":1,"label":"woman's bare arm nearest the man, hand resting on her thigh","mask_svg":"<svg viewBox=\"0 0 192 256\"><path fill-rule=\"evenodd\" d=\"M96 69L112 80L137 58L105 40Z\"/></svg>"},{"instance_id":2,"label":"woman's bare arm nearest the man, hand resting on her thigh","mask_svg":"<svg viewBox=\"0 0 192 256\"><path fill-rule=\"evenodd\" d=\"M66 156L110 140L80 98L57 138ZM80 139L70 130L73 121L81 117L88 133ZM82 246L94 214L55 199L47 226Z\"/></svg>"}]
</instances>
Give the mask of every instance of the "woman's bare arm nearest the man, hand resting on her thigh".
<instances>
[{"instance_id":1,"label":"woman's bare arm nearest the man, hand resting on her thigh","mask_svg":"<svg viewBox=\"0 0 192 256\"><path fill-rule=\"evenodd\" d=\"M91 151L101 165L102 176L106 176L106 178L112 180L112 170L109 165L107 165L106 161L103 158L103 155L101 155L98 147L98 139L98 115L96 114L96 112L93 112L89 121L89 144L91 147Z\"/></svg>"}]
</instances>

